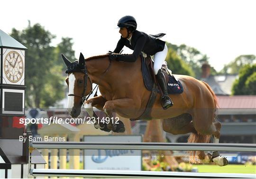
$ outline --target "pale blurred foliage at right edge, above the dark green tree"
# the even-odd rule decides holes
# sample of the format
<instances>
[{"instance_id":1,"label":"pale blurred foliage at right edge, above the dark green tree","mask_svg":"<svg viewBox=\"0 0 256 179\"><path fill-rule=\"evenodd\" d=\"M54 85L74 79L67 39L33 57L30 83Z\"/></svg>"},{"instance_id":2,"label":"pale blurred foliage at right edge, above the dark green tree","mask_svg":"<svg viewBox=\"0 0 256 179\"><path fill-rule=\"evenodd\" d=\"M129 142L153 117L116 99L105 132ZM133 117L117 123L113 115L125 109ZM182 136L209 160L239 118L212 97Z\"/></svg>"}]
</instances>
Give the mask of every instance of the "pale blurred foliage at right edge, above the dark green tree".
<instances>
[{"instance_id":1,"label":"pale blurred foliage at right edge, above the dark green tree","mask_svg":"<svg viewBox=\"0 0 256 179\"><path fill-rule=\"evenodd\" d=\"M235 60L225 65L220 71L220 74L238 74L238 72L244 65L253 63L256 63L255 55L240 55Z\"/></svg>"}]
</instances>

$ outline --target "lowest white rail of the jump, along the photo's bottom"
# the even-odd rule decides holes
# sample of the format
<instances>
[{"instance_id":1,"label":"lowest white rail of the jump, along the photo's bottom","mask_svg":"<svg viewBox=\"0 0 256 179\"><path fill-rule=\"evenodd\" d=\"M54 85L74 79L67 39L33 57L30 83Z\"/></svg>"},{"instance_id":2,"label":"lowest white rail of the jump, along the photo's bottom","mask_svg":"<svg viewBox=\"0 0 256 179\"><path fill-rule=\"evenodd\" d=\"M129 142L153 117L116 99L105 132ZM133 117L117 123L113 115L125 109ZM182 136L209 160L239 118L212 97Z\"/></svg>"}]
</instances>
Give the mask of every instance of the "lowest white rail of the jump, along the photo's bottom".
<instances>
[{"instance_id":1,"label":"lowest white rail of the jump, along the photo's bottom","mask_svg":"<svg viewBox=\"0 0 256 179\"><path fill-rule=\"evenodd\" d=\"M34 177L48 176L85 178L256 178L255 174L130 170L31 169L30 174Z\"/></svg>"}]
</instances>

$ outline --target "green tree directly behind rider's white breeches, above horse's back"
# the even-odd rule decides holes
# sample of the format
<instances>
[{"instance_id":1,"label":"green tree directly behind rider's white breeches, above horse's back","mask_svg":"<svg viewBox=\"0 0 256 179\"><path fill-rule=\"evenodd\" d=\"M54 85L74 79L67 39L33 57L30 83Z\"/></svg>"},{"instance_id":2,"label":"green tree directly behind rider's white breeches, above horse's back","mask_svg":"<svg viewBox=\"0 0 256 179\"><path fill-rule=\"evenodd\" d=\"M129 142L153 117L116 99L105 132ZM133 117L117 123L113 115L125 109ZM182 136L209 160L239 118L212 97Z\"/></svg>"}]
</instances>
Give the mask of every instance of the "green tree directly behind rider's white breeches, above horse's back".
<instances>
[{"instance_id":1,"label":"green tree directly behind rider's white breeches, above horse's back","mask_svg":"<svg viewBox=\"0 0 256 179\"><path fill-rule=\"evenodd\" d=\"M166 62L168 68L174 74L182 74L194 76L192 69L186 64L179 55L176 54L175 50L172 48L168 49L168 54L166 56Z\"/></svg>"}]
</instances>

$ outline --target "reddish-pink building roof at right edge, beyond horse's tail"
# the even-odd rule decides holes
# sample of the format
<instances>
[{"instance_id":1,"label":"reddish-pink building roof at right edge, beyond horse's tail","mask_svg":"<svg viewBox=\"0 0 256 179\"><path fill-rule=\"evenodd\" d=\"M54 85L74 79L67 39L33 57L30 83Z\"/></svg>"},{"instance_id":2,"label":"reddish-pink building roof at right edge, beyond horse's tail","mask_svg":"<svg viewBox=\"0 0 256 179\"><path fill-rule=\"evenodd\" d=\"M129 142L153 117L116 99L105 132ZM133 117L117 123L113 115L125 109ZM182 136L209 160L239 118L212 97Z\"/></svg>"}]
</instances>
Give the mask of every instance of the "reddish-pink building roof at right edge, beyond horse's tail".
<instances>
[{"instance_id":1,"label":"reddish-pink building roof at right edge, beyond horse's tail","mask_svg":"<svg viewBox=\"0 0 256 179\"><path fill-rule=\"evenodd\" d=\"M220 108L255 108L256 96L217 96Z\"/></svg>"}]
</instances>

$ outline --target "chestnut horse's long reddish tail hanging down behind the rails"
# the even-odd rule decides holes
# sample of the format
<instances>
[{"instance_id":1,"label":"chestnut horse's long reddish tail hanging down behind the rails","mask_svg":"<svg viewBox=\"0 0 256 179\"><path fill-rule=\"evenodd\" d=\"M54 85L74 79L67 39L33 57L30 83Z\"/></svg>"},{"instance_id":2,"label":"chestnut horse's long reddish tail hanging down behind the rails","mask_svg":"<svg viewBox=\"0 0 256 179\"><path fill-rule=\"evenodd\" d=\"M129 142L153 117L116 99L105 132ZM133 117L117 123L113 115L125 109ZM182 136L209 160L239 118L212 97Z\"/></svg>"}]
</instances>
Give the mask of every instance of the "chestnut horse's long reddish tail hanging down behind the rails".
<instances>
[{"instance_id":1,"label":"chestnut horse's long reddish tail hanging down behind the rails","mask_svg":"<svg viewBox=\"0 0 256 179\"><path fill-rule=\"evenodd\" d=\"M215 121L215 119L217 117L217 108L219 107L218 100L217 100L215 93L210 88L210 86L206 82L204 82L204 81L202 81L202 82L207 87L207 89L210 91L212 98L214 100L214 117L212 120ZM209 143L210 137L211 137L211 135L202 135L202 134L198 134L198 133L191 133L188 138L188 143ZM200 163L201 162L197 158L197 156L201 156L199 158L205 157L205 153L203 151L189 151L189 154L190 154L190 162L192 162L192 163Z\"/></svg>"}]
</instances>

